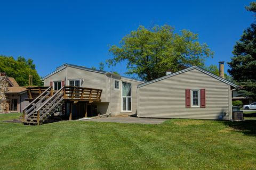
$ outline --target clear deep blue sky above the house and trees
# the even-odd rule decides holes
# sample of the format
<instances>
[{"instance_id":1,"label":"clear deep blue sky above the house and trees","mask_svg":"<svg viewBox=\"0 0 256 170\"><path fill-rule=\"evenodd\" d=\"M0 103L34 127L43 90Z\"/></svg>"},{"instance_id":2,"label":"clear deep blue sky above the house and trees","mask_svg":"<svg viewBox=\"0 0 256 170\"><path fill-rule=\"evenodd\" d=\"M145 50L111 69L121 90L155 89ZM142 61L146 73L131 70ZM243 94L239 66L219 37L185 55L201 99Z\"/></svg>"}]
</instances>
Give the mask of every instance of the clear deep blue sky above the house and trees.
<instances>
[{"instance_id":1,"label":"clear deep blue sky above the house and trees","mask_svg":"<svg viewBox=\"0 0 256 170\"><path fill-rule=\"evenodd\" d=\"M3 1L0 0L0 54L32 58L40 76L63 64L99 66L109 45L139 25L188 29L215 52L206 65L230 61L233 46L253 14L251 1ZM126 71L125 63L106 71ZM225 65L227 71L228 65Z\"/></svg>"}]
</instances>

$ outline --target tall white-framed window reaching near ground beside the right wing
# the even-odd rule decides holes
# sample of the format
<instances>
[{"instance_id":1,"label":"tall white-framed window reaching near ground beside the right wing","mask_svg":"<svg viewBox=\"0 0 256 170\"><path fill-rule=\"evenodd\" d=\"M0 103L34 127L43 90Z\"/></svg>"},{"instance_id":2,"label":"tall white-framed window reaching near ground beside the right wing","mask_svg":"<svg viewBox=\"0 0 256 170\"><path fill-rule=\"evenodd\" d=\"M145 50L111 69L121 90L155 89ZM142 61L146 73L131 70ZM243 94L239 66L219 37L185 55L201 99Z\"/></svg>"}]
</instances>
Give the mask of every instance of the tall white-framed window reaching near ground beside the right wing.
<instances>
[{"instance_id":1,"label":"tall white-framed window reaching near ground beside the right wing","mask_svg":"<svg viewBox=\"0 0 256 170\"><path fill-rule=\"evenodd\" d=\"M122 82L122 111L132 111L132 84Z\"/></svg>"}]
</instances>

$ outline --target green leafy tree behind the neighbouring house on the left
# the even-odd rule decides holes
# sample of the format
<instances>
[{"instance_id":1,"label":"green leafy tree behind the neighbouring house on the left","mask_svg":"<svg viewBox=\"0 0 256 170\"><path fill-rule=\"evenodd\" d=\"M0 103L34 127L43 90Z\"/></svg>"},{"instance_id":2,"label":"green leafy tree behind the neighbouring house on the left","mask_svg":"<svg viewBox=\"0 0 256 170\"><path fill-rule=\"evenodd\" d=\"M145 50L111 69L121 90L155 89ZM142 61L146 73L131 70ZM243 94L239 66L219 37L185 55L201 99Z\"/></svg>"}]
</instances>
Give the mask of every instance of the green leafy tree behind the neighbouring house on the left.
<instances>
[{"instance_id":1,"label":"green leafy tree behind the neighbouring house on the left","mask_svg":"<svg viewBox=\"0 0 256 170\"><path fill-rule=\"evenodd\" d=\"M0 72L5 72L8 77L13 77L20 86L28 86L28 76L33 75L33 86L42 86L42 81L35 70L33 60L24 57L13 57L0 55Z\"/></svg>"}]
</instances>

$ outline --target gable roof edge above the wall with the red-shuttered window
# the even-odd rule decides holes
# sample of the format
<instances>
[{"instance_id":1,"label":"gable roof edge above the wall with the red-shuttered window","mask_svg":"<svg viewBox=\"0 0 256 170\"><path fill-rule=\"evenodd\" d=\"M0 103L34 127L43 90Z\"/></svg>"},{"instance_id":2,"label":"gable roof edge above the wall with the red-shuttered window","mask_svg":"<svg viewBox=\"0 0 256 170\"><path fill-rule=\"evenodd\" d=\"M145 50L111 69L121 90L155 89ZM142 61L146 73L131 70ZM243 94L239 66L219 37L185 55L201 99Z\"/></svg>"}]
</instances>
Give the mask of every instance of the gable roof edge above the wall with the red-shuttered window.
<instances>
[{"instance_id":1,"label":"gable roof edge above the wall with the red-shuttered window","mask_svg":"<svg viewBox=\"0 0 256 170\"><path fill-rule=\"evenodd\" d=\"M158 78L158 79L155 79L155 80L151 80L151 81L148 81L148 82L145 82L145 83L142 83L142 84L139 84L138 85L138 88L142 87L142 86L146 86L148 84L151 84L151 83L154 83L154 82L157 82L157 81L161 81L163 79L167 79L167 78L170 78L170 77L173 77L174 75L178 75L178 74L181 74L181 73L184 73L184 72L187 72L187 71L190 71L190 70L193 70L193 69L196 69L198 71L201 71L207 75L210 75L211 77L219 80L219 81L222 81L223 83L226 83L226 84L229 84L230 86L233 86L235 88L237 88L238 86L226 79L223 79L221 77L219 77L218 75L215 75L209 71L206 71L204 69L202 69L201 67L198 67L198 66L192 66L192 67L188 67L187 69L184 69L184 70L181 70L181 71L178 71L178 72L175 72L175 73L172 73L172 74L169 74L169 75L165 75L164 77L162 78Z\"/></svg>"}]
</instances>

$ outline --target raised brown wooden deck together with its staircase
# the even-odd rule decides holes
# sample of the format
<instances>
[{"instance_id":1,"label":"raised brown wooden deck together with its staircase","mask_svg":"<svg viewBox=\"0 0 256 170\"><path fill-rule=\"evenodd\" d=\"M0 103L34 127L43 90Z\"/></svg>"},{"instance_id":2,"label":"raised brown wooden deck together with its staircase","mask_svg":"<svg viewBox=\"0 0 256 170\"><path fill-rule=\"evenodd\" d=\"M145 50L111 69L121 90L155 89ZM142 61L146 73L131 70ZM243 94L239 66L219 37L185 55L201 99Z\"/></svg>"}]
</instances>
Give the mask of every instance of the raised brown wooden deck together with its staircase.
<instances>
[{"instance_id":1,"label":"raised brown wooden deck together with its staircase","mask_svg":"<svg viewBox=\"0 0 256 170\"><path fill-rule=\"evenodd\" d=\"M65 104L65 101L101 101L102 90L63 86L58 91L53 91L52 87L32 87L28 88L28 94L31 102L22 110L22 122L26 125L40 125L45 123L57 108Z\"/></svg>"}]
</instances>

